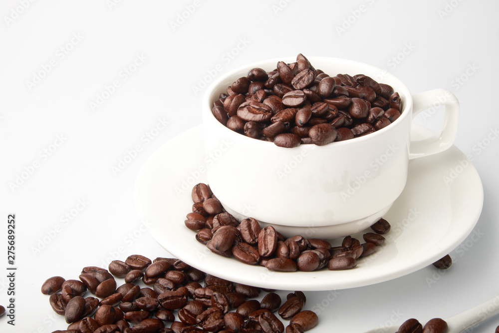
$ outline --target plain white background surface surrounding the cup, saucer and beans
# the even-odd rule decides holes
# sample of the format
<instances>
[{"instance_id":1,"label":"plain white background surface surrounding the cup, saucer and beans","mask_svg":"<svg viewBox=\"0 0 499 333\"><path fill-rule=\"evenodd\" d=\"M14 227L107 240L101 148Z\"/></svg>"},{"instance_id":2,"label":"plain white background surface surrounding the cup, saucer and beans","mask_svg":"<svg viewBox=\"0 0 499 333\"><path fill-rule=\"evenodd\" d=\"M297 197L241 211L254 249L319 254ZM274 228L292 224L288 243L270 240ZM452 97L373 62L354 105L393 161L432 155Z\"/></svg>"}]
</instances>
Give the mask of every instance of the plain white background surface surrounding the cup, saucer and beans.
<instances>
[{"instance_id":1,"label":"plain white background surface surrounding the cup, saucer and beans","mask_svg":"<svg viewBox=\"0 0 499 333\"><path fill-rule=\"evenodd\" d=\"M202 81L300 52L384 68L413 93L452 91L461 103L455 145L472 156L485 191L475 229L483 235L453 253L451 269L427 267L337 291L332 302L324 301L328 292L309 292L308 308L328 303L312 332L446 318L493 298L499 293L498 12L492 0L2 0L1 305L8 302L8 214L16 217L18 270L16 326L2 317L0 331L66 327L40 293L51 276L77 279L82 267L103 266L113 255L168 256L141 231L133 197L140 167L166 141L201 123ZM429 118L419 122L432 128L441 117ZM129 163L116 169L124 159ZM498 325L496 318L474 332Z\"/></svg>"}]
</instances>

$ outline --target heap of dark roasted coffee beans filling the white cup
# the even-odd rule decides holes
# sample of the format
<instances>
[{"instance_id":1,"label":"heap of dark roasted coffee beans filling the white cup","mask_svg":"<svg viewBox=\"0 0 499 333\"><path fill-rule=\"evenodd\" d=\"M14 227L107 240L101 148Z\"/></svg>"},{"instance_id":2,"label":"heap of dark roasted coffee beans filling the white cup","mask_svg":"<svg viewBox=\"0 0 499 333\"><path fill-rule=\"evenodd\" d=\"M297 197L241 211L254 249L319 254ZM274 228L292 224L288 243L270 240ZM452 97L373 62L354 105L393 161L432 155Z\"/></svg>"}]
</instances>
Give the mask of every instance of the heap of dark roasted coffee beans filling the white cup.
<instances>
[{"instance_id":1,"label":"heap of dark roasted coffee beans filling the white cup","mask_svg":"<svg viewBox=\"0 0 499 333\"><path fill-rule=\"evenodd\" d=\"M363 74L329 76L301 53L275 69L252 68L213 102L224 126L280 147L319 146L380 130L402 110L398 92Z\"/></svg>"}]
</instances>

